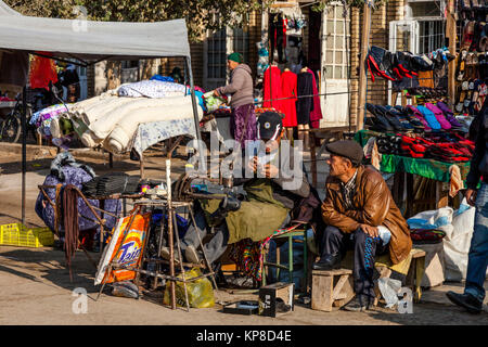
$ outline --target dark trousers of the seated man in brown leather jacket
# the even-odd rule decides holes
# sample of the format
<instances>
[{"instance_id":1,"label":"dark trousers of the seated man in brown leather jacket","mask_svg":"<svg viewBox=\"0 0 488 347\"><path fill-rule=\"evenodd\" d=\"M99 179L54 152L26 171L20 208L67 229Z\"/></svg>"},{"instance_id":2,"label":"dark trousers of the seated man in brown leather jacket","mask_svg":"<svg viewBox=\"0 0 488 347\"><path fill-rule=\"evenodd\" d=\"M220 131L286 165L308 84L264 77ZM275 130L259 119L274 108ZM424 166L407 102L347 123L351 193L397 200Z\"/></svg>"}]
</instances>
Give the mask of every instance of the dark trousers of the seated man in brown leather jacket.
<instances>
[{"instance_id":1,"label":"dark trousers of the seated man in brown leather jacket","mask_svg":"<svg viewBox=\"0 0 488 347\"><path fill-rule=\"evenodd\" d=\"M322 234L321 257L328 254L341 253L343 257L348 249L355 250L355 293L375 297L373 283L374 257L385 254L388 245L383 245L381 239L373 239L361 229L348 234L339 229L328 226Z\"/></svg>"}]
</instances>

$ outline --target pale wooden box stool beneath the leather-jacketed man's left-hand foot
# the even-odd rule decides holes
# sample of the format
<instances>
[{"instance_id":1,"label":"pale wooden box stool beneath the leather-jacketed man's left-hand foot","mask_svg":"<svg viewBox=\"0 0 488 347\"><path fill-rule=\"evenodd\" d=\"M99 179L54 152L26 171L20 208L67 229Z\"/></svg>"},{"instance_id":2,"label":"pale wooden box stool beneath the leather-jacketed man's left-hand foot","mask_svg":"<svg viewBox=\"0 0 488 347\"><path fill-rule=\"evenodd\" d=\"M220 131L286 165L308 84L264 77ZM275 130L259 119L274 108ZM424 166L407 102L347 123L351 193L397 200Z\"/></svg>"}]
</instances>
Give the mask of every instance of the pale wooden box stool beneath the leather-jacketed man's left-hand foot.
<instances>
[{"instance_id":1,"label":"pale wooden box stool beneath the leather-jacketed man's left-hand foot","mask_svg":"<svg viewBox=\"0 0 488 347\"><path fill-rule=\"evenodd\" d=\"M312 310L332 311L332 306L342 307L354 296L352 270L312 270Z\"/></svg>"}]
</instances>

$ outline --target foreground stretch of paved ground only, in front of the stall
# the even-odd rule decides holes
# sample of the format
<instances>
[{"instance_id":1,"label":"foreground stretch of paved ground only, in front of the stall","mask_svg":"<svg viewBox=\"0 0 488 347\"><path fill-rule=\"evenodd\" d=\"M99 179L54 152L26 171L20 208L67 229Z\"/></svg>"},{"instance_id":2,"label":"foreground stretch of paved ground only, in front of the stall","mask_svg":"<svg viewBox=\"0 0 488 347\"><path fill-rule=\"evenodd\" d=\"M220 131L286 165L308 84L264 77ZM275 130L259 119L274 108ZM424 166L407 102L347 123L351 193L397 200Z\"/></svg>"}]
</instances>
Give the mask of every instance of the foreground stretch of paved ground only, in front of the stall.
<instances>
[{"instance_id":1,"label":"foreground stretch of paved ground only, in front of the stall","mask_svg":"<svg viewBox=\"0 0 488 347\"><path fill-rule=\"evenodd\" d=\"M98 254L91 254L97 257ZM64 267L64 253L52 248L28 249L0 246L0 324L188 324L196 325L287 325L287 324L488 324L488 313L472 316L447 303L438 287L424 292L424 303L414 304L412 314L400 314L384 308L370 312L342 310L321 312L298 305L294 312L281 318L236 316L220 312L221 306L209 309L171 310L152 298L130 299L102 294L93 286L94 269L84 253L73 261L74 282ZM454 287L459 288L459 284ZM73 313L76 299L73 290L88 292L88 312ZM256 295L215 293L217 303L257 299ZM438 301L440 304L432 304Z\"/></svg>"}]
</instances>

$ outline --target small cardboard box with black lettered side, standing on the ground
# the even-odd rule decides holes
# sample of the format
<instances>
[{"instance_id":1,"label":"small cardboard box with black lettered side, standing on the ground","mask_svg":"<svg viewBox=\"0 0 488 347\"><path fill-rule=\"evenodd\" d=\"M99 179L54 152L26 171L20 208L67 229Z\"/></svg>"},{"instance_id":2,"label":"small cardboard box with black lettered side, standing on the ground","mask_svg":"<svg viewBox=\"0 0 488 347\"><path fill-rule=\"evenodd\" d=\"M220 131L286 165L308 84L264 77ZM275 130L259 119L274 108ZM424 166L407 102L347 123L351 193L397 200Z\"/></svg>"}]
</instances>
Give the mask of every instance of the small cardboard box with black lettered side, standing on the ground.
<instances>
[{"instance_id":1,"label":"small cardboard box with black lettered side, standing on the ground","mask_svg":"<svg viewBox=\"0 0 488 347\"><path fill-rule=\"evenodd\" d=\"M278 317L294 307L295 284L278 282L259 288L259 316Z\"/></svg>"}]
</instances>

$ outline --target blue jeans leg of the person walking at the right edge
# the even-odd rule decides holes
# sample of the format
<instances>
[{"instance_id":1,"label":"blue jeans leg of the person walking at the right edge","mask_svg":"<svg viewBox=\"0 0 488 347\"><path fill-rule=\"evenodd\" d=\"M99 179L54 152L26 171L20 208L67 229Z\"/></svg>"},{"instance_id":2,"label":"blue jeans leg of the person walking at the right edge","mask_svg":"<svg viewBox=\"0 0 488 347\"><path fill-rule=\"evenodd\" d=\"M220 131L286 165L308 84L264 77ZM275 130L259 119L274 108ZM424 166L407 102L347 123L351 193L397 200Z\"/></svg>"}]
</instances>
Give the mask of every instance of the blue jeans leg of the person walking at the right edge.
<instances>
[{"instance_id":1,"label":"blue jeans leg of the person walking at the right edge","mask_svg":"<svg viewBox=\"0 0 488 347\"><path fill-rule=\"evenodd\" d=\"M488 266L488 184L483 183L476 195L476 214L467 260L465 294L483 303Z\"/></svg>"}]
</instances>

